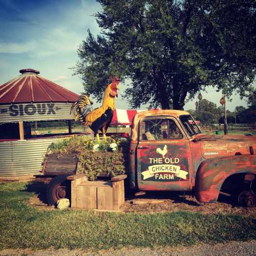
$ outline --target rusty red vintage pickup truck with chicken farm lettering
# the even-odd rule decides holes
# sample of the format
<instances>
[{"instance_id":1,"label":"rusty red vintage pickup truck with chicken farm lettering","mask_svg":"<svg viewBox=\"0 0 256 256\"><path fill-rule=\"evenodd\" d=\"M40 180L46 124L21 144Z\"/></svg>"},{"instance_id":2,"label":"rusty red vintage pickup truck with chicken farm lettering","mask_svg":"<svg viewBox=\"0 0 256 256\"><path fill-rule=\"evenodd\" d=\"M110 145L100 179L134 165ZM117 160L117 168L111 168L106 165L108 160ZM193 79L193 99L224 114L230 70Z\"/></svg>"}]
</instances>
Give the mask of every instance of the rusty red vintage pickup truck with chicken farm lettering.
<instances>
[{"instance_id":1,"label":"rusty red vintage pickup truck with chicken farm lettering","mask_svg":"<svg viewBox=\"0 0 256 256\"><path fill-rule=\"evenodd\" d=\"M256 202L256 137L207 135L185 111L150 110L132 122L127 175L139 191L191 191L199 202L216 202L220 191L236 195L245 206ZM53 178L48 201L70 196L67 176L77 162L48 158L42 170Z\"/></svg>"}]
</instances>

